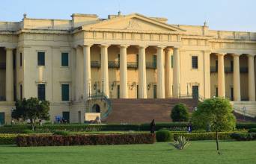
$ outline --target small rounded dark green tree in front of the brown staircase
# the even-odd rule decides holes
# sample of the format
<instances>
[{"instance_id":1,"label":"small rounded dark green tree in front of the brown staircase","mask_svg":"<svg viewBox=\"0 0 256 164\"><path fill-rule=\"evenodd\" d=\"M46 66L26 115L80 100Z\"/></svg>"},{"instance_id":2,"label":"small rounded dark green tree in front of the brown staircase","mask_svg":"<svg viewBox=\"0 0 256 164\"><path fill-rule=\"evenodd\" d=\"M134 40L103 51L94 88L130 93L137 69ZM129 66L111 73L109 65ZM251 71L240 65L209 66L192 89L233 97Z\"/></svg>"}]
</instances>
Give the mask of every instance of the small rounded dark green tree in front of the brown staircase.
<instances>
[{"instance_id":1,"label":"small rounded dark green tree in front of the brown staircase","mask_svg":"<svg viewBox=\"0 0 256 164\"><path fill-rule=\"evenodd\" d=\"M189 121L189 112L185 104L177 104L171 110L171 119L173 122Z\"/></svg>"}]
</instances>

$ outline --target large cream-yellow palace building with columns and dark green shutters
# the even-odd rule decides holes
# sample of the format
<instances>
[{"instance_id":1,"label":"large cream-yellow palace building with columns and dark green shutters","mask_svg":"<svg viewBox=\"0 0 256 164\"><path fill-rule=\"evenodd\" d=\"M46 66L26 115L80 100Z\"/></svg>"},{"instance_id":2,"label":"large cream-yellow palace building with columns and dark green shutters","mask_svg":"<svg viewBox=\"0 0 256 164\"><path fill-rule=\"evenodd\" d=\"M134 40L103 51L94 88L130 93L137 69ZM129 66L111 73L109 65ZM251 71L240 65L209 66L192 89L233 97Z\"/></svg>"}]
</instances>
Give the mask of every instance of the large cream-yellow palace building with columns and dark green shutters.
<instances>
[{"instance_id":1,"label":"large cream-yellow palace building with columns and dark green shutters","mask_svg":"<svg viewBox=\"0 0 256 164\"><path fill-rule=\"evenodd\" d=\"M10 123L16 100L30 97L50 102L52 122L106 118L118 98L129 106L137 98L221 96L237 113L256 116L256 33L170 25L138 13L71 18L24 14L21 22L0 22L1 124Z\"/></svg>"}]
</instances>

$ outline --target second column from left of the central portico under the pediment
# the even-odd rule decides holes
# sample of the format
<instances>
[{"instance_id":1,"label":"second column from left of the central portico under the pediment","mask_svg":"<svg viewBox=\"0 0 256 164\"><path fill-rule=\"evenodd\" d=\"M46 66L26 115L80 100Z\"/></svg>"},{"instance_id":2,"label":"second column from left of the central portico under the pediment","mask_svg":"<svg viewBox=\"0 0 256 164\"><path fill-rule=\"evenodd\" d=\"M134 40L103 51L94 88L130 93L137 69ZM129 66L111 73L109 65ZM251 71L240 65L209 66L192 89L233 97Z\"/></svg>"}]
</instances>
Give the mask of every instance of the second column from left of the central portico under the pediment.
<instances>
[{"instance_id":1,"label":"second column from left of the central portico under the pediment","mask_svg":"<svg viewBox=\"0 0 256 164\"><path fill-rule=\"evenodd\" d=\"M108 60L108 47L109 45L100 45L101 53L101 81L102 81L102 91L109 98L109 60Z\"/></svg>"}]
</instances>

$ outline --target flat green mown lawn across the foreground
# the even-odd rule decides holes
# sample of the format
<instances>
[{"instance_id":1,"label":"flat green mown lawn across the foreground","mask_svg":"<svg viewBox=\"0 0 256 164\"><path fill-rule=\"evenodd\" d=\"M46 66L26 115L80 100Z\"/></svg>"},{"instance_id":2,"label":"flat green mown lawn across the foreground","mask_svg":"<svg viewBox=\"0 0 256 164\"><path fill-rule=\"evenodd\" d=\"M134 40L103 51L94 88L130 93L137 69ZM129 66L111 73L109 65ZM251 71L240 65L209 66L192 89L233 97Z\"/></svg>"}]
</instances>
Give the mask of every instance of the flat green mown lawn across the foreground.
<instances>
[{"instance_id":1,"label":"flat green mown lawn across the foreground","mask_svg":"<svg viewBox=\"0 0 256 164\"><path fill-rule=\"evenodd\" d=\"M168 143L70 147L0 146L0 163L256 163L256 141L197 141L183 151Z\"/></svg>"}]
</instances>

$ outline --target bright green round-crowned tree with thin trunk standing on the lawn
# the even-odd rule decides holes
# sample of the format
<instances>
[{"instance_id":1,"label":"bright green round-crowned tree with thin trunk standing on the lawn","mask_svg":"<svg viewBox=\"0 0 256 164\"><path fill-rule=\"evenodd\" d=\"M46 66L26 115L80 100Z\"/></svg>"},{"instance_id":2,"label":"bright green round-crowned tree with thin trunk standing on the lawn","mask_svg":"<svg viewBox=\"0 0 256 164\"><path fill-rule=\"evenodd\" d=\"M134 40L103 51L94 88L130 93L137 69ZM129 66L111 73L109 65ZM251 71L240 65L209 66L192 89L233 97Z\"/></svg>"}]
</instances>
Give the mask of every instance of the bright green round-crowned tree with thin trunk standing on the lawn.
<instances>
[{"instance_id":1,"label":"bright green round-crowned tree with thin trunk standing on the lawn","mask_svg":"<svg viewBox=\"0 0 256 164\"><path fill-rule=\"evenodd\" d=\"M210 98L198 104L197 110L192 113L192 124L197 128L216 132L216 147L219 153L218 132L234 130L236 119L233 108L228 99ZM220 154L220 153L219 153Z\"/></svg>"}]
</instances>

